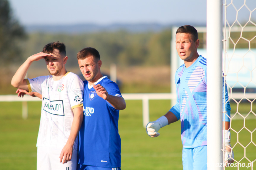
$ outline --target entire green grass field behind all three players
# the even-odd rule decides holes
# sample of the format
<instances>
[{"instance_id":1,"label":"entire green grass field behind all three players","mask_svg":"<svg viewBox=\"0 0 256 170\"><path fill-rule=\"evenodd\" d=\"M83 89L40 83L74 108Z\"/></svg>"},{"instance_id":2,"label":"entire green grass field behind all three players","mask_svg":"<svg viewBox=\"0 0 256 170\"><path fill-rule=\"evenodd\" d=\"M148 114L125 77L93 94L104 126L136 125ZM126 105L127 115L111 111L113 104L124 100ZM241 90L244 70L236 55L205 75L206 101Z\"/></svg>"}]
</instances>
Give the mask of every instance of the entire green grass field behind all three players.
<instances>
[{"instance_id":1,"label":"entire green grass field behind all three players","mask_svg":"<svg viewBox=\"0 0 256 170\"><path fill-rule=\"evenodd\" d=\"M122 170L167 170L182 169L182 143L180 123L168 125L160 130L160 137L150 138L142 125L142 101L126 101L127 107L120 111L119 133L122 142ZM150 121L154 121L170 109L170 100L150 101ZM28 119L21 117L21 102L0 102L0 167L8 170L36 169L36 139L40 120L40 102L28 102ZM249 106L244 106L249 107ZM246 157L255 161L256 120L233 120L232 128L240 131L231 135L235 158L248 163ZM239 144L238 142L241 144ZM228 168L237 169L237 168ZM247 169L247 168L239 168Z\"/></svg>"}]
</instances>

